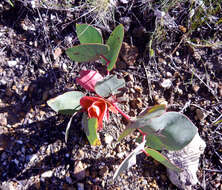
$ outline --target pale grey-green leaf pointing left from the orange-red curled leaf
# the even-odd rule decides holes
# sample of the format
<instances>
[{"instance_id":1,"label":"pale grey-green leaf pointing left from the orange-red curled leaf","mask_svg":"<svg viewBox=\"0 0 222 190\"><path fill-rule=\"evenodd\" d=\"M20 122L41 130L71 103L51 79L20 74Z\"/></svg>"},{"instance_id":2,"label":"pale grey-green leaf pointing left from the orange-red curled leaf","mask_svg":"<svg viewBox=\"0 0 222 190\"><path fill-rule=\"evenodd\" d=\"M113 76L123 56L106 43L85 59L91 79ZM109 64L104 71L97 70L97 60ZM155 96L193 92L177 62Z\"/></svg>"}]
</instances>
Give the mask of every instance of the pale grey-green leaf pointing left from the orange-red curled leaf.
<instances>
[{"instance_id":1,"label":"pale grey-green leaf pointing left from the orange-red curled leaf","mask_svg":"<svg viewBox=\"0 0 222 190\"><path fill-rule=\"evenodd\" d=\"M62 114L72 115L80 110L80 99L85 96L82 92L71 91L47 101L49 107Z\"/></svg>"}]
</instances>

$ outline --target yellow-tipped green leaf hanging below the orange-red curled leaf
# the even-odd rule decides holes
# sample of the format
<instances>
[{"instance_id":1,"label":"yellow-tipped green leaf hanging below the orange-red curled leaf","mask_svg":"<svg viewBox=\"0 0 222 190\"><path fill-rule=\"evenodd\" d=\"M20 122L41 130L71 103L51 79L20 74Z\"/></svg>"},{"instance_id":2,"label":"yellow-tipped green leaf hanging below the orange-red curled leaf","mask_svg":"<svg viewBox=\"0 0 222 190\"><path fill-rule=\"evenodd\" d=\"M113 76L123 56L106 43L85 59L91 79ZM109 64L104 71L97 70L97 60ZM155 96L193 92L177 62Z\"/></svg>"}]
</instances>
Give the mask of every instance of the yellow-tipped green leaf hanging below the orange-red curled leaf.
<instances>
[{"instance_id":1,"label":"yellow-tipped green leaf hanging below the orange-red curled leaf","mask_svg":"<svg viewBox=\"0 0 222 190\"><path fill-rule=\"evenodd\" d=\"M99 146L101 142L97 136L98 119L97 118L87 118L84 114L82 118L82 125L87 139L91 146Z\"/></svg>"}]
</instances>

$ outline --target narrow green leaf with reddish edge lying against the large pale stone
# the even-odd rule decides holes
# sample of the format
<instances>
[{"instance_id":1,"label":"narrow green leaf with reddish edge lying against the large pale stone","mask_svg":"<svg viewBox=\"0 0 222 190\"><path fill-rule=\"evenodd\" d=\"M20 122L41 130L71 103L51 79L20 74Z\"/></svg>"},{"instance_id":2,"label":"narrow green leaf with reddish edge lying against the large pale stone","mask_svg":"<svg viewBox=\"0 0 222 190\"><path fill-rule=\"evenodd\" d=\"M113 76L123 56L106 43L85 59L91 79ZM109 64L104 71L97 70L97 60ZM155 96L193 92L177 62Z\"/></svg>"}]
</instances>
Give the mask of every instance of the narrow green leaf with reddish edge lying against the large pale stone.
<instances>
[{"instance_id":1,"label":"narrow green leaf with reddish edge lying against the large pale stone","mask_svg":"<svg viewBox=\"0 0 222 190\"><path fill-rule=\"evenodd\" d=\"M171 163L164 155L161 153L157 152L156 150L153 150L151 148L145 148L145 151L155 160L166 166L167 168L177 171L177 172L182 172L182 169L178 168L176 165Z\"/></svg>"}]
</instances>

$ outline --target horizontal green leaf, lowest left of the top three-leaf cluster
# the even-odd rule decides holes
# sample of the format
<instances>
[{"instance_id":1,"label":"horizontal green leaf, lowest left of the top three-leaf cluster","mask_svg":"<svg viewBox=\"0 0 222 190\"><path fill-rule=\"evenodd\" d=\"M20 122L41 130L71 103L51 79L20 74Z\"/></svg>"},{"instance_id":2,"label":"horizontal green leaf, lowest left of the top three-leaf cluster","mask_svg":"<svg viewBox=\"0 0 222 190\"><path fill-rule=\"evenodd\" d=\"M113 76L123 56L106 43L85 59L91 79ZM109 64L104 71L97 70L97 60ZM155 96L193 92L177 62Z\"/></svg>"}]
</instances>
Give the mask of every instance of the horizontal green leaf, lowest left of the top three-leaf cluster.
<instances>
[{"instance_id":1,"label":"horizontal green leaf, lowest left of the top three-leaf cluster","mask_svg":"<svg viewBox=\"0 0 222 190\"><path fill-rule=\"evenodd\" d=\"M81 44L68 48L66 54L71 60L77 62L89 62L95 61L100 58L101 55L106 54L109 51L108 45L103 44Z\"/></svg>"}]
</instances>

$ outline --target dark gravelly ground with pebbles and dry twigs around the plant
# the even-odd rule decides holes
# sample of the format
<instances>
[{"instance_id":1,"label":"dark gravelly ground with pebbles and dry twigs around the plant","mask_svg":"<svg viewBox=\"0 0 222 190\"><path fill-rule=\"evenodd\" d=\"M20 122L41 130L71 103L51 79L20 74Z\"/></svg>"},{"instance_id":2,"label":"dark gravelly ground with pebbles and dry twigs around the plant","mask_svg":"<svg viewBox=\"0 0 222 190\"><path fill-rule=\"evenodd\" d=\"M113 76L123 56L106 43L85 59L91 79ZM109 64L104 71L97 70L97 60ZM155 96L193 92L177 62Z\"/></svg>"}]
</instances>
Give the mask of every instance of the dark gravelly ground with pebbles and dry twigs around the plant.
<instances>
[{"instance_id":1,"label":"dark gravelly ground with pebbles and dry twigs around the plant","mask_svg":"<svg viewBox=\"0 0 222 190\"><path fill-rule=\"evenodd\" d=\"M144 2L118 1L115 21L105 22L85 14L81 1L0 2L1 189L176 189L166 169L142 154L136 166L112 180L138 135L117 142L127 124L120 115L112 115L100 133L102 146L91 147L78 114L65 143L69 117L53 112L46 101L84 91L75 83L80 70L105 71L100 63L77 64L64 53L78 43L75 23L85 22L100 28L105 39L115 25L124 25L112 71L127 84L120 107L135 117L165 103L187 115L207 144L200 184L193 189L222 189L222 125L215 124L222 118L221 5L195 4L191 18L191 1L169 6L160 1L156 7Z\"/></svg>"}]
</instances>

